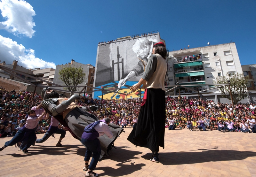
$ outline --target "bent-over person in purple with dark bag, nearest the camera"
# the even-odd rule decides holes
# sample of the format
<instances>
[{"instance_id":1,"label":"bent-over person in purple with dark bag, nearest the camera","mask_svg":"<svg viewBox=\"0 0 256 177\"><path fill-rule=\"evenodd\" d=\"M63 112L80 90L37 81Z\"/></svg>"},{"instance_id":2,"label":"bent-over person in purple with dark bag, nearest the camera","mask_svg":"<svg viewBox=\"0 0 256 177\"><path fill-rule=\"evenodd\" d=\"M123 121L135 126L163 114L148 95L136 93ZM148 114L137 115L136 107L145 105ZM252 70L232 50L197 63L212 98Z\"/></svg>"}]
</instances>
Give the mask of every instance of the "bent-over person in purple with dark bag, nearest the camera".
<instances>
[{"instance_id":1,"label":"bent-over person in purple with dark bag, nearest the camera","mask_svg":"<svg viewBox=\"0 0 256 177\"><path fill-rule=\"evenodd\" d=\"M113 137L113 134L108 127L111 120L109 118L105 118L105 120L98 120L98 121L100 121L98 124L96 123L97 121L92 123L92 124L96 123L94 128L92 127L92 124L87 126L87 127L90 127L90 126L92 127L91 128L92 131L90 132L85 132L85 129L87 128L85 127L84 133L82 135L82 143L87 149L85 152L85 157L84 157L85 166L83 169L84 171L87 170L85 176L93 176L93 177L98 176L97 173L93 172L94 168L96 168L96 165L100 159L100 153L101 153L100 141L98 137L104 134L106 134L108 138ZM92 161L90 165L88 165L91 156L92 156Z\"/></svg>"}]
</instances>

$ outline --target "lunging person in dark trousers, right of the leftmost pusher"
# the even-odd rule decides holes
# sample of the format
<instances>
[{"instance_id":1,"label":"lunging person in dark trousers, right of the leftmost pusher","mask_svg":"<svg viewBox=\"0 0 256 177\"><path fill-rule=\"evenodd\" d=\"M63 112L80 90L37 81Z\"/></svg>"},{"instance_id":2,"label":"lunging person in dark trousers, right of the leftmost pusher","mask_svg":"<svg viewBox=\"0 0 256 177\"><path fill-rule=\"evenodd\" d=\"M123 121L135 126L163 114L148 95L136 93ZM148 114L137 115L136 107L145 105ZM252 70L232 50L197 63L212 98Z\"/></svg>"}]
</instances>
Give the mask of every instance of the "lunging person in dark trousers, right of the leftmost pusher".
<instances>
[{"instance_id":1,"label":"lunging person in dark trousers, right of the leftmost pusher","mask_svg":"<svg viewBox=\"0 0 256 177\"><path fill-rule=\"evenodd\" d=\"M62 146L62 144L60 142L63 138L65 138L66 131L58 128L58 126L59 126L59 121L52 116L51 125L50 125L48 131L44 134L43 138L37 139L36 143L45 142L51 135L56 133L56 134L60 134L60 139L59 139L58 143L56 144L56 146L57 147Z\"/></svg>"}]
</instances>

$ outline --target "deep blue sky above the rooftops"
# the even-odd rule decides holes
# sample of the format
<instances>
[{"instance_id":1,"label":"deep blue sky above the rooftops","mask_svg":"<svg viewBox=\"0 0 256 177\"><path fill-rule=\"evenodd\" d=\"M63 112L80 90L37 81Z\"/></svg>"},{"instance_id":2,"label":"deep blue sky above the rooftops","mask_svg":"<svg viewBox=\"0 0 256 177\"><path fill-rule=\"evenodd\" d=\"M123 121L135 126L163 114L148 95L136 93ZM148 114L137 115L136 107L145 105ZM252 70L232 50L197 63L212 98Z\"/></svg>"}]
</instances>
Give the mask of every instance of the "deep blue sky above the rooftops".
<instances>
[{"instance_id":1,"label":"deep blue sky above the rooftops","mask_svg":"<svg viewBox=\"0 0 256 177\"><path fill-rule=\"evenodd\" d=\"M0 0L0 3L8 6L11 1L15 4L17 0ZM24 18L26 20L32 14L35 26L30 26L31 29L26 27L26 33L24 30L20 32L25 28L22 27L24 23L20 24L18 32L10 31L15 24L9 28L6 24L4 27L0 24L3 38L2 41L0 39L1 62L4 61L2 58L13 61L13 55L10 56L7 49L2 48L1 52L1 42L10 38L13 46L21 44L26 49L17 52L20 65L54 67L54 64L66 64L74 59L95 66L98 42L158 30L169 50L187 48L188 45L190 48L202 47L207 42L211 45L222 44L232 40L236 42L241 65L256 63L254 0L27 2L31 6L25 9L28 15ZM11 9L17 13L22 10L22 4ZM1 11L3 15L3 7ZM34 16L33 11L36 13ZM17 19L10 23L20 21L19 16ZM6 20L6 16L0 16L1 22Z\"/></svg>"}]
</instances>

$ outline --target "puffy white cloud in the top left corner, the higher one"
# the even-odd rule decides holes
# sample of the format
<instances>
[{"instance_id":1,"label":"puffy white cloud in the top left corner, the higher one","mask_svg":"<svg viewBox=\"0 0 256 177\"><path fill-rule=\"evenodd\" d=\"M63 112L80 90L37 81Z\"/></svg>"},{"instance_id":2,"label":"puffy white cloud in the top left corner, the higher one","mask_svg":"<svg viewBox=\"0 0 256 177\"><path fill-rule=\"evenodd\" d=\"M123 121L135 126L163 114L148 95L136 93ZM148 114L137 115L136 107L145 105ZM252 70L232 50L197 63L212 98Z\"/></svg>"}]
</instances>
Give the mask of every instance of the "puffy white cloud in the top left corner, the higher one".
<instances>
[{"instance_id":1,"label":"puffy white cloud in the top left corner, the higher one","mask_svg":"<svg viewBox=\"0 0 256 177\"><path fill-rule=\"evenodd\" d=\"M0 29L5 29L14 35L23 34L31 38L36 26L33 16L36 12L33 7L23 0L0 0L2 16L6 21L0 22Z\"/></svg>"}]
</instances>

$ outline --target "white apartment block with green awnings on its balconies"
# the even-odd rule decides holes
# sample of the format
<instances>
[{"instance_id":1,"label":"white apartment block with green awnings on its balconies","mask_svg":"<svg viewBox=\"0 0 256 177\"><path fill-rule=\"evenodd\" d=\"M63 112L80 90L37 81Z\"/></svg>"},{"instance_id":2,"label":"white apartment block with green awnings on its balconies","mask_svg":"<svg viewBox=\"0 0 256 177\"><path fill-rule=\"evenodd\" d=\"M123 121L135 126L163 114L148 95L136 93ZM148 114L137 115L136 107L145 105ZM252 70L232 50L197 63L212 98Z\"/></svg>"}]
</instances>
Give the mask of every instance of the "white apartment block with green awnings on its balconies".
<instances>
[{"instance_id":1,"label":"white apartment block with green awnings on its balconies","mask_svg":"<svg viewBox=\"0 0 256 177\"><path fill-rule=\"evenodd\" d=\"M214 85L202 84L213 84L218 76L243 72L234 42L170 51L167 62L168 84L177 85L179 82L180 85L188 85L186 87L196 91L213 88ZM169 94L177 97L179 89L176 88ZM188 98L198 97L198 92L186 88L180 88L180 94L186 95ZM221 96L217 89L201 92L200 97L215 102L230 103L228 99ZM242 102L246 103L248 99L244 99Z\"/></svg>"}]
</instances>

